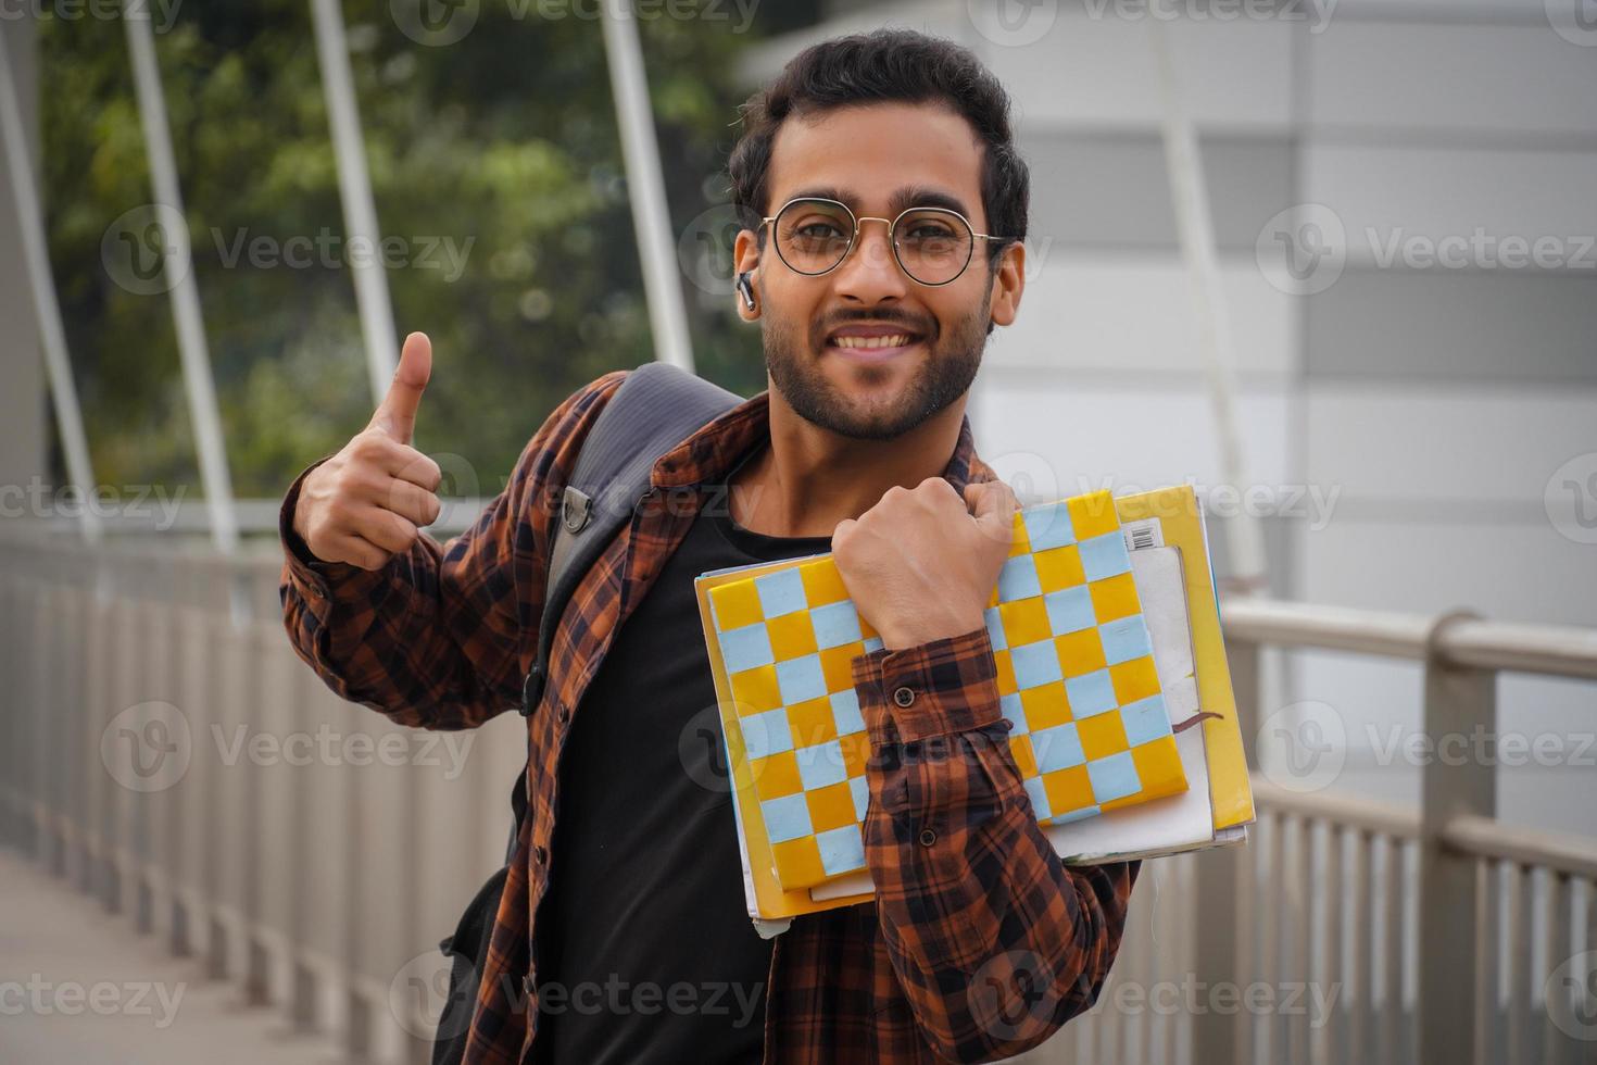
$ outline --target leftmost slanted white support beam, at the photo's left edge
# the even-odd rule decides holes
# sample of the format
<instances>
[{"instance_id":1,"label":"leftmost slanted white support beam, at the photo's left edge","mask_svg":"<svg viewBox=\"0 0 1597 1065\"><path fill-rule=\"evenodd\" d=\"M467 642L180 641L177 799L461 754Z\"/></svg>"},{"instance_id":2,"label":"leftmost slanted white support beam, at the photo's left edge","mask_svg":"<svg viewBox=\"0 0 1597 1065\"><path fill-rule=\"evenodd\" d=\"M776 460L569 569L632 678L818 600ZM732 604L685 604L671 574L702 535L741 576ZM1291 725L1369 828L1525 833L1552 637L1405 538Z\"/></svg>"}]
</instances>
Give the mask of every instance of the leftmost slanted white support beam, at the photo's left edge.
<instances>
[{"instance_id":1,"label":"leftmost slanted white support beam, at the photo's left edge","mask_svg":"<svg viewBox=\"0 0 1597 1065\"><path fill-rule=\"evenodd\" d=\"M72 361L67 358L67 332L61 321L61 300L56 295L56 278L50 271L50 251L45 243L45 209L38 198L38 182L34 174L34 153L27 144L27 126L11 69L13 42L6 40L6 19L0 19L0 139L5 141L5 161L10 171L16 227L21 233L22 263L27 271L34 315L38 319L38 340L45 350L45 372L50 378L50 398L56 410L56 426L61 430L61 450L67 460L67 481L83 500L93 497L94 469L89 463L88 436L83 431L83 409L78 406L78 390L72 382ZM101 521L93 506L80 508L80 529L89 543L99 543Z\"/></svg>"}]
</instances>

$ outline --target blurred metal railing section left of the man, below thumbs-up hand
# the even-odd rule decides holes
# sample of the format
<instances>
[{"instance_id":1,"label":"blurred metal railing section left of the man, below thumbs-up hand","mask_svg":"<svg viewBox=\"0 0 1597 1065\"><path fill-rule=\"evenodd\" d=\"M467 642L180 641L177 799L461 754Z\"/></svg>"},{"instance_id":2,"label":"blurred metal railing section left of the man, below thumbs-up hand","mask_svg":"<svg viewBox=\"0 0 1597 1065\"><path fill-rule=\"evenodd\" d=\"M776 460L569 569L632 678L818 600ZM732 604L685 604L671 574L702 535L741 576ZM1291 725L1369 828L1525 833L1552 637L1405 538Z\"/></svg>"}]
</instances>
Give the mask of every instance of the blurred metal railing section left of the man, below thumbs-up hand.
<instances>
[{"instance_id":1,"label":"blurred metal railing section left of the man, below thumbs-up hand","mask_svg":"<svg viewBox=\"0 0 1597 1065\"><path fill-rule=\"evenodd\" d=\"M5 538L0 822L246 1003L422 1062L436 944L503 861L522 719L423 733L339 699L287 642L279 565Z\"/></svg>"}]
</instances>

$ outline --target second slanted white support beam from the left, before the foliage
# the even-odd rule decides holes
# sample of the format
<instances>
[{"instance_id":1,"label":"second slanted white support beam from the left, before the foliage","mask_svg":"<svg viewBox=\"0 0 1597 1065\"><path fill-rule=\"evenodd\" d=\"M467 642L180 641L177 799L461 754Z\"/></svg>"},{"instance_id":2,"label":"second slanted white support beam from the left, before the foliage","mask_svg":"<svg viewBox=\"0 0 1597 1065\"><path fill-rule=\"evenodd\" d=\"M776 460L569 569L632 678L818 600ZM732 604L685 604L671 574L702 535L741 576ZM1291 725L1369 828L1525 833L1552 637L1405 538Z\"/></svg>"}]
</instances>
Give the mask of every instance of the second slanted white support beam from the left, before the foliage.
<instances>
[{"instance_id":1,"label":"second slanted white support beam from the left, before the foliage","mask_svg":"<svg viewBox=\"0 0 1597 1065\"><path fill-rule=\"evenodd\" d=\"M195 450L200 455L200 481L204 485L206 511L211 517L211 540L220 552L232 554L238 548L233 479L227 471L222 415L217 410L216 383L211 378L211 351L206 346L204 319L200 313L200 289L193 278L188 227L182 224L184 201L177 187L172 134L166 125L166 94L161 89L161 70L155 59L155 34L150 29L147 5L139 0L123 0L121 24L128 32L133 86L139 99L139 123L144 126L155 203L158 208L166 208L161 214L172 220L171 225L163 225L168 230L163 241L164 270L166 279L172 283L177 354L182 359L184 391L188 396L188 417L193 420Z\"/></svg>"}]
</instances>

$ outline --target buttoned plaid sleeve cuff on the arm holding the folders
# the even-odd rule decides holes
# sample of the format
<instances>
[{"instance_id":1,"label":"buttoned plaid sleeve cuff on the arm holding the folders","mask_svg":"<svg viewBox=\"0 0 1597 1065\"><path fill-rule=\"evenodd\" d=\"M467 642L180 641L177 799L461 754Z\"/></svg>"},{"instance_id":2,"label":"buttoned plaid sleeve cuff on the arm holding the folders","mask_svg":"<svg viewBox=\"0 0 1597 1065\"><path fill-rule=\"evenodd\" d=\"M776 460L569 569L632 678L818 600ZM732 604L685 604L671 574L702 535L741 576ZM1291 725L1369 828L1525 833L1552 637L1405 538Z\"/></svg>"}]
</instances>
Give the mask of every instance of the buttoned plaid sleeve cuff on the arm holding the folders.
<instances>
[{"instance_id":1,"label":"buttoned plaid sleeve cuff on the arm holding the folders","mask_svg":"<svg viewBox=\"0 0 1597 1065\"><path fill-rule=\"evenodd\" d=\"M880 749L1003 720L987 626L917 647L878 647L851 661L859 712Z\"/></svg>"}]
</instances>

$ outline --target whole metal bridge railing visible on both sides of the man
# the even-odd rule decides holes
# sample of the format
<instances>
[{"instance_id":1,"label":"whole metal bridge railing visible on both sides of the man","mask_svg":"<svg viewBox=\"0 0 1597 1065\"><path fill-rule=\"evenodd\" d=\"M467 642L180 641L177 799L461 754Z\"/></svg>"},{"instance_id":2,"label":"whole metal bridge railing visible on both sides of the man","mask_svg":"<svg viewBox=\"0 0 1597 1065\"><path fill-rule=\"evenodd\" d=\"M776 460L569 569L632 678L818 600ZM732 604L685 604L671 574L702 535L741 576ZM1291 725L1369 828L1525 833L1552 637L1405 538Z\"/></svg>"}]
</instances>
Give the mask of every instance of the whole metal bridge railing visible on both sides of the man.
<instances>
[{"instance_id":1,"label":"whole metal bridge railing visible on both sides of the man","mask_svg":"<svg viewBox=\"0 0 1597 1065\"><path fill-rule=\"evenodd\" d=\"M351 1055L426 1060L521 719L422 733L337 699L287 645L275 544L0 541L5 840ZM1421 661L1431 736L1495 734L1500 671L1597 679L1597 631L1223 613L1250 747L1266 647ZM1592 1060L1587 968L1554 971L1597 969L1597 841L1500 824L1490 763L1421 773L1417 810L1255 773L1250 841L1147 862L1099 1003L1024 1060Z\"/></svg>"}]
</instances>

